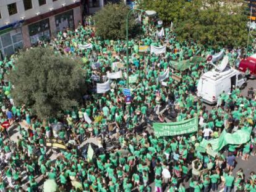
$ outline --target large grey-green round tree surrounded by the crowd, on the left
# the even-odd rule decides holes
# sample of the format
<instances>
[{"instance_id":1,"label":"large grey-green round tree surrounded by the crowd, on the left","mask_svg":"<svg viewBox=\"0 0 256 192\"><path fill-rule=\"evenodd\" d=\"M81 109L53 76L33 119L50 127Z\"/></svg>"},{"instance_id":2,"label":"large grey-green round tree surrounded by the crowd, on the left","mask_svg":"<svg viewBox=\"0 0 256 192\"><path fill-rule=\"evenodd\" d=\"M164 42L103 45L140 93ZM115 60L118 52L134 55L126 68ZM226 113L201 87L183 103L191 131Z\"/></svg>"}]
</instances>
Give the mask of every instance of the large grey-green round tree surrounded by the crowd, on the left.
<instances>
[{"instance_id":1,"label":"large grey-green round tree surrounded by the crowd, on the left","mask_svg":"<svg viewBox=\"0 0 256 192\"><path fill-rule=\"evenodd\" d=\"M53 49L33 48L22 52L8 76L17 105L25 104L40 119L59 117L82 101L85 90L79 61L54 53Z\"/></svg>"}]
</instances>

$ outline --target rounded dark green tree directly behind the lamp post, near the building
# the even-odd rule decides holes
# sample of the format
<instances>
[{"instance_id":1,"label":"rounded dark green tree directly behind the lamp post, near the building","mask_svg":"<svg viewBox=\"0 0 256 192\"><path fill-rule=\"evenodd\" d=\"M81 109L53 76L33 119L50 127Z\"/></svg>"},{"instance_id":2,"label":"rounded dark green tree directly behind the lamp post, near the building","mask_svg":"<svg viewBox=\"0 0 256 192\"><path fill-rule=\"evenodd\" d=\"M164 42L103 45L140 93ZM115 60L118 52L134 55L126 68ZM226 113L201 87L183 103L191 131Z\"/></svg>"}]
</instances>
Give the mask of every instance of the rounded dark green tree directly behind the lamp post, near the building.
<instances>
[{"instance_id":1,"label":"rounded dark green tree directly behind the lamp post, near the building","mask_svg":"<svg viewBox=\"0 0 256 192\"><path fill-rule=\"evenodd\" d=\"M124 3L107 4L94 15L96 35L104 39L117 40L126 38L126 16L129 7ZM136 22L134 15L130 15L129 33L135 35Z\"/></svg>"}]
</instances>

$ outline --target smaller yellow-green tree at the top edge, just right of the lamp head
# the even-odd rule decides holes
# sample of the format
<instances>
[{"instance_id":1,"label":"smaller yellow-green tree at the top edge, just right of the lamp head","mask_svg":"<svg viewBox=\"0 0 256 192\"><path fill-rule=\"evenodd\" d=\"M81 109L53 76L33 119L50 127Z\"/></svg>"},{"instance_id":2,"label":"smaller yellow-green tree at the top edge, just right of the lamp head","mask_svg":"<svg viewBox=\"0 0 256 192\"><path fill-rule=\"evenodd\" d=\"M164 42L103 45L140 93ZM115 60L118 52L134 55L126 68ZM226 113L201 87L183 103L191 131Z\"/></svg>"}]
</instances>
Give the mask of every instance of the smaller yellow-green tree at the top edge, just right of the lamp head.
<instances>
[{"instance_id":1,"label":"smaller yellow-green tree at the top edge, just right of the lamp head","mask_svg":"<svg viewBox=\"0 0 256 192\"><path fill-rule=\"evenodd\" d=\"M142 9L155 10L158 17L164 22L176 22L186 0L142 0L139 4Z\"/></svg>"}]
</instances>

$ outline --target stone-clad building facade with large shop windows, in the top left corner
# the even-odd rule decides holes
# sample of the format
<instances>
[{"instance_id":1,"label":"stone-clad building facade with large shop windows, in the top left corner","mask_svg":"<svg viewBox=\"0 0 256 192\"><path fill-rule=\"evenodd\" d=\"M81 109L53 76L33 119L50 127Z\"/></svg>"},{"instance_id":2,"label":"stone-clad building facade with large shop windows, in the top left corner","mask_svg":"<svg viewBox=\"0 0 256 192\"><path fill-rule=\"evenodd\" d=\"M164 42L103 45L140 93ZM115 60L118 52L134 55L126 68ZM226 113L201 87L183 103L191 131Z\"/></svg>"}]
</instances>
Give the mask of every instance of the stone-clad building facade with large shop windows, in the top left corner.
<instances>
[{"instance_id":1,"label":"stone-clad building facade with large shop windows, in the top left corner","mask_svg":"<svg viewBox=\"0 0 256 192\"><path fill-rule=\"evenodd\" d=\"M1 0L0 59L81 21L80 0Z\"/></svg>"}]
</instances>

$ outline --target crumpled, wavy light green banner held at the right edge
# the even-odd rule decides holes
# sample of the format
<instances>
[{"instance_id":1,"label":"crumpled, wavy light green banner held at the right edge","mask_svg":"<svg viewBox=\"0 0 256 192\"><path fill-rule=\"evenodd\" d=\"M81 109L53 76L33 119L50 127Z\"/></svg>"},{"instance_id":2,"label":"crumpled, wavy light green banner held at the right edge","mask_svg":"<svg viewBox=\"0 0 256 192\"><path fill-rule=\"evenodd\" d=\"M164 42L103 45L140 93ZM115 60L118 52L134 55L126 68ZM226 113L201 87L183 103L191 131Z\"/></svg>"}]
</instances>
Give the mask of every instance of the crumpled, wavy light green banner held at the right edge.
<instances>
[{"instance_id":1,"label":"crumpled, wavy light green banner held at the right edge","mask_svg":"<svg viewBox=\"0 0 256 192\"><path fill-rule=\"evenodd\" d=\"M220 135L220 138L215 140L203 140L200 143L200 146L207 148L207 145L210 143L213 151L220 151L226 144L243 144L250 140L250 133L252 128L243 128L236 131L236 133L227 133L226 130Z\"/></svg>"}]
</instances>

